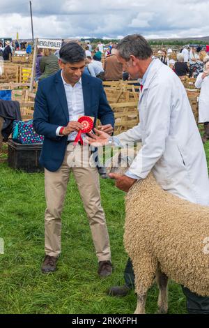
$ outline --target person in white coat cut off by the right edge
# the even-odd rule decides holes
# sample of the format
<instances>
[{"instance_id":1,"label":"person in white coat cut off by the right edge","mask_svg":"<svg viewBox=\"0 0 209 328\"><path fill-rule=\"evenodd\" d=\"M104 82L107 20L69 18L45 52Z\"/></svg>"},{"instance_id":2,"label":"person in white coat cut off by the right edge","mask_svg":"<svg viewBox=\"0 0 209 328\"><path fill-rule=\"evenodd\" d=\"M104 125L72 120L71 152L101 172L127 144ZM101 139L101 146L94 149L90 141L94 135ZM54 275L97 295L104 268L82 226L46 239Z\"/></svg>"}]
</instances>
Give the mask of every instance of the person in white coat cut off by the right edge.
<instances>
[{"instance_id":1,"label":"person in white coat cut off by the right edge","mask_svg":"<svg viewBox=\"0 0 209 328\"><path fill-rule=\"evenodd\" d=\"M195 82L195 87L201 89L199 96L199 123L204 124L203 144L209 140L209 57L206 57L205 61L204 70L202 73L199 73Z\"/></svg>"}]
</instances>

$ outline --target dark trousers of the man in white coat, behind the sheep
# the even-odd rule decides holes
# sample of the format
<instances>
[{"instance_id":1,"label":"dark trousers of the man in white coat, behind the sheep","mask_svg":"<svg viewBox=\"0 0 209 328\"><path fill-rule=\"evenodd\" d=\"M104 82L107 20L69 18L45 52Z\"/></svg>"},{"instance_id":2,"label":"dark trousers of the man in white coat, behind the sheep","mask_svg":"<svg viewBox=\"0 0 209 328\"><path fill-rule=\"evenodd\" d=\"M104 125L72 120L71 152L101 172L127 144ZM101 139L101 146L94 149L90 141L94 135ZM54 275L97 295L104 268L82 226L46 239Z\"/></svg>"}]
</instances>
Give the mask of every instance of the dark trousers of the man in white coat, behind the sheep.
<instances>
[{"instance_id":1,"label":"dark trousers of the man in white coat, behind the sheep","mask_svg":"<svg viewBox=\"0 0 209 328\"><path fill-rule=\"evenodd\" d=\"M134 288L134 271L130 258L127 259L127 264L124 271L125 285L128 288ZM183 286L182 290L187 299L187 312L189 314L209 314L209 297L202 297L191 292Z\"/></svg>"}]
</instances>

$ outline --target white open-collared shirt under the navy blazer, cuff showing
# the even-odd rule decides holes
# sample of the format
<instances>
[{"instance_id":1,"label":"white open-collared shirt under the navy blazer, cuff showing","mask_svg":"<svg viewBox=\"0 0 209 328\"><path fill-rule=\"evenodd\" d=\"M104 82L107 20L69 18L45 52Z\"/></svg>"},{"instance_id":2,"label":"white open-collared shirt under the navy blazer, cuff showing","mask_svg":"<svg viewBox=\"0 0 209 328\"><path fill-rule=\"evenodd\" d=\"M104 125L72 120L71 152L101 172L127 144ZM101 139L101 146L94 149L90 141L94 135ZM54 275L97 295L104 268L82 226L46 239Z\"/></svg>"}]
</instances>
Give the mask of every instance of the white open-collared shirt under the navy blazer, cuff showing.
<instances>
[{"instance_id":1,"label":"white open-collared shirt under the navy blazer, cuff showing","mask_svg":"<svg viewBox=\"0 0 209 328\"><path fill-rule=\"evenodd\" d=\"M79 117L84 116L84 96L82 88L82 78L77 82L74 87L71 84L68 84L63 79L63 72L61 71L61 77L63 80L65 94L68 103L68 112L69 112L69 122L77 121ZM56 129L56 135L59 135L61 126ZM75 140L77 132L72 132L68 135L68 140Z\"/></svg>"}]
</instances>

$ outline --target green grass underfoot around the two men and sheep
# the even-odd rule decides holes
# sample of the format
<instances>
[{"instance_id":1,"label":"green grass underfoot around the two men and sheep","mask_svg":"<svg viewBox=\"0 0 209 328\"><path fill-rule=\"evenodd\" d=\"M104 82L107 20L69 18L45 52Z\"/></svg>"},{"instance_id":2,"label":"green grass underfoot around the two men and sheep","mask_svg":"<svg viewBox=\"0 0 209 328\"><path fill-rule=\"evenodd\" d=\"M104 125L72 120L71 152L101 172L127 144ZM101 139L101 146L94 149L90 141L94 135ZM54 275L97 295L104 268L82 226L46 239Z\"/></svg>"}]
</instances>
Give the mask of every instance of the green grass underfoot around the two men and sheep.
<instances>
[{"instance_id":1,"label":"green grass underfoot around the two men and sheep","mask_svg":"<svg viewBox=\"0 0 209 328\"><path fill-rule=\"evenodd\" d=\"M206 146L209 165L209 147ZM127 260L123 248L123 192L113 181L101 180L114 274L100 279L88 220L71 177L62 216L62 253L54 274L40 272L44 258L44 175L15 172L0 164L0 313L133 313L134 292L107 296L111 285L122 285ZM157 310L157 288L148 293L147 313ZM169 283L169 313L186 313L185 297Z\"/></svg>"}]
</instances>

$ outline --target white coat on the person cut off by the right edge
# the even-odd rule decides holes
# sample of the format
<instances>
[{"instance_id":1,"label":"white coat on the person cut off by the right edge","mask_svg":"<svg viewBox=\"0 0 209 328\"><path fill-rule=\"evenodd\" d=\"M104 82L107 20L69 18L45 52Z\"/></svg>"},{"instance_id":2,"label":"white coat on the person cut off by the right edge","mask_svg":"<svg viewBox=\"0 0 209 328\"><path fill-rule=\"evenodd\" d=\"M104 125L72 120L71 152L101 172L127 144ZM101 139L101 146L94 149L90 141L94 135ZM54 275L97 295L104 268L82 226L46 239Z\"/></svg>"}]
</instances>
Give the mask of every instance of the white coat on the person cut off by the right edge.
<instances>
[{"instance_id":1,"label":"white coat on the person cut off by the right edge","mask_svg":"<svg viewBox=\"0 0 209 328\"><path fill-rule=\"evenodd\" d=\"M199 123L209 122L209 76L202 79L203 73L196 78L195 87L200 89L199 95Z\"/></svg>"}]
</instances>

